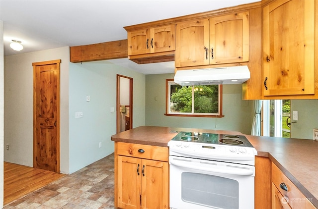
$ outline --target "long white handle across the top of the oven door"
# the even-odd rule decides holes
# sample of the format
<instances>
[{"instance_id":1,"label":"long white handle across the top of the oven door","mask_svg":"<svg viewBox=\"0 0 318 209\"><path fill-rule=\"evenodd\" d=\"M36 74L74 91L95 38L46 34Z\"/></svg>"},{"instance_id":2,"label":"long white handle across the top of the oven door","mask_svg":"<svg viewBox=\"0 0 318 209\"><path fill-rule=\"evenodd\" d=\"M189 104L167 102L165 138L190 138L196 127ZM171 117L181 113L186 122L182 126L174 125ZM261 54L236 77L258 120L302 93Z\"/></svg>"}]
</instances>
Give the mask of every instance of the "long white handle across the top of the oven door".
<instances>
[{"instance_id":1,"label":"long white handle across the top of the oven door","mask_svg":"<svg viewBox=\"0 0 318 209\"><path fill-rule=\"evenodd\" d=\"M189 161L183 162L181 160L170 160L170 164L175 165L175 166L179 166L179 167L186 167L186 168L190 168L190 169L215 172L215 173L233 174L233 175L241 175L241 176L254 175L254 171L250 170L250 169L241 169L241 168L218 169L218 168L197 166L197 165L194 165L194 163L191 163Z\"/></svg>"}]
</instances>

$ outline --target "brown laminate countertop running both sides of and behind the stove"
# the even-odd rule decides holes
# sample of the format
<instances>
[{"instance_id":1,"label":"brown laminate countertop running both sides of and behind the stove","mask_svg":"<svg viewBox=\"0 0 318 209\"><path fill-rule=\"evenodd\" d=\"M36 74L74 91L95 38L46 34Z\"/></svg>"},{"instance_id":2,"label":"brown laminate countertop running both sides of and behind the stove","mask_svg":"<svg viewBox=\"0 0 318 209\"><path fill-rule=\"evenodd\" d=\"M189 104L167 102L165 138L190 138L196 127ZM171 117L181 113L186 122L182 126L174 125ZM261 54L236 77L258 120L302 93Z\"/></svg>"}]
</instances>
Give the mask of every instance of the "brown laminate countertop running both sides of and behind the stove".
<instances>
[{"instance_id":1,"label":"brown laminate countertop running both sides of and behind the stove","mask_svg":"<svg viewBox=\"0 0 318 209\"><path fill-rule=\"evenodd\" d=\"M173 131L244 135L257 150L258 156L269 157L318 208L318 142L314 140L250 136L237 131L157 126L140 126L113 135L111 140L166 147L177 134Z\"/></svg>"}]
</instances>

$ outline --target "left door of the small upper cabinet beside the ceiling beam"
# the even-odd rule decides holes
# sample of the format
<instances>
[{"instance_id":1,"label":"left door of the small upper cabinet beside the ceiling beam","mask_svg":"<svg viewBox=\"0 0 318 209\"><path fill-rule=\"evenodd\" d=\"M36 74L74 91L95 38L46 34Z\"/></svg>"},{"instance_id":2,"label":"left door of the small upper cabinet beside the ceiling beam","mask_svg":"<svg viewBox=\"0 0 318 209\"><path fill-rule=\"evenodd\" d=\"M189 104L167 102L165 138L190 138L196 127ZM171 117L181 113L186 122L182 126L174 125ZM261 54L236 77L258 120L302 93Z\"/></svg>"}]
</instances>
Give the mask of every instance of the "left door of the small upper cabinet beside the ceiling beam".
<instances>
[{"instance_id":1,"label":"left door of the small upper cabinet beside the ceiling beam","mask_svg":"<svg viewBox=\"0 0 318 209\"><path fill-rule=\"evenodd\" d=\"M141 29L127 34L128 56L150 53L150 30Z\"/></svg>"}]
</instances>

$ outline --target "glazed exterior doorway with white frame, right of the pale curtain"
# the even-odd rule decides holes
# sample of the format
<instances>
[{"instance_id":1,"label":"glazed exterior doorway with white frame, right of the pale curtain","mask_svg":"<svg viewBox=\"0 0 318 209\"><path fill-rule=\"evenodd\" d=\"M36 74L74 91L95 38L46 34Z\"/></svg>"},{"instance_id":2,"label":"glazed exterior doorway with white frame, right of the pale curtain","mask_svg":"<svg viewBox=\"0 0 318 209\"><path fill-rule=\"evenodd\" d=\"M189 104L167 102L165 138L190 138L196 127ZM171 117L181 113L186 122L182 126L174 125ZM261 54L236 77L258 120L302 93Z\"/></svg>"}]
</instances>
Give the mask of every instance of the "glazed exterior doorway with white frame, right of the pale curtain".
<instances>
[{"instance_id":1,"label":"glazed exterior doorway with white frame, right of the pale curtain","mask_svg":"<svg viewBox=\"0 0 318 209\"><path fill-rule=\"evenodd\" d=\"M263 136L291 137L291 100L263 101Z\"/></svg>"}]
</instances>

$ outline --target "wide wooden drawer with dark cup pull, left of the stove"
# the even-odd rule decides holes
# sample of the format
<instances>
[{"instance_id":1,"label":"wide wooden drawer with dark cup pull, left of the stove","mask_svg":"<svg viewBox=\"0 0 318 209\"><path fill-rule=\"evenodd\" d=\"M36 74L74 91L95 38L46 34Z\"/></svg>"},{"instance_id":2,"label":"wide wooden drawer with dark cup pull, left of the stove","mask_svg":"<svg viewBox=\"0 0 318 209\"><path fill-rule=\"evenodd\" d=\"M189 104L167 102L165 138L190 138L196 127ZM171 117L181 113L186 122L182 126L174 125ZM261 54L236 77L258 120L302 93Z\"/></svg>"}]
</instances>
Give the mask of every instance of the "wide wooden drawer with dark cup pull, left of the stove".
<instances>
[{"instance_id":1,"label":"wide wooden drawer with dark cup pull, left of the stove","mask_svg":"<svg viewBox=\"0 0 318 209\"><path fill-rule=\"evenodd\" d=\"M145 159L154 159L168 161L169 152L167 147L158 147L151 145L133 144L117 142L117 154L121 156L139 157ZM144 151L144 152L142 152Z\"/></svg>"}]
</instances>

